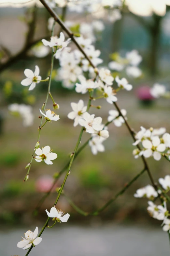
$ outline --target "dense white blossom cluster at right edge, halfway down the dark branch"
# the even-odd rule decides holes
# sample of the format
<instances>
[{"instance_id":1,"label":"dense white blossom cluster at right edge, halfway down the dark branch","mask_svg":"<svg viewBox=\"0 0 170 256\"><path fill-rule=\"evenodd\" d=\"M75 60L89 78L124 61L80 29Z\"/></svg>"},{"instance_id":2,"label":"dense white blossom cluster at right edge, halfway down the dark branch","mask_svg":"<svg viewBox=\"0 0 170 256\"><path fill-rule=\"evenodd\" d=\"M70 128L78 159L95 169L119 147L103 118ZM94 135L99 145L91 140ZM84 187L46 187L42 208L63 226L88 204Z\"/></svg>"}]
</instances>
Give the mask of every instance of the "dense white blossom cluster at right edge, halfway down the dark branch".
<instances>
[{"instance_id":1,"label":"dense white blossom cluster at right edge, halfway down the dark branch","mask_svg":"<svg viewBox=\"0 0 170 256\"><path fill-rule=\"evenodd\" d=\"M157 161L161 156L167 156L170 159L170 134L166 132L165 128L146 129L141 126L141 130L135 134L136 141L133 145L142 144L142 150L134 149L133 155L135 158L144 156L153 158Z\"/></svg>"}]
</instances>

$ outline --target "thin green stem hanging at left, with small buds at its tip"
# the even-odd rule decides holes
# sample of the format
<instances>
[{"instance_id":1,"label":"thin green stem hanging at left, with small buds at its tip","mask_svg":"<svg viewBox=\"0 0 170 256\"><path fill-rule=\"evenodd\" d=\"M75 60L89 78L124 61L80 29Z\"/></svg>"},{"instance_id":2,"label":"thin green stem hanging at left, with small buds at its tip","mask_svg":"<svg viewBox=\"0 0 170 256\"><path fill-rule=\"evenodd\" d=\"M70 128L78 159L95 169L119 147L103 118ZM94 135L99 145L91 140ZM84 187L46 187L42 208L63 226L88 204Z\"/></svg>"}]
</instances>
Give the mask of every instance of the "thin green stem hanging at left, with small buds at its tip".
<instances>
[{"instance_id":1,"label":"thin green stem hanging at left, with small buds at its tip","mask_svg":"<svg viewBox=\"0 0 170 256\"><path fill-rule=\"evenodd\" d=\"M55 22L53 23L53 26L52 26L51 36L54 35L54 26L55 26ZM54 63L54 53L53 53L53 48L52 48L50 78L49 78L48 92L47 92L46 100L45 100L45 103L44 103L43 113L44 113L44 111L45 111L46 104L47 104L48 97L49 97L49 92L50 92L51 75L52 75L53 63ZM41 128L46 124L46 123L44 123L44 125L42 126L42 122L43 122L43 115L41 116L41 123L40 123L40 126L39 126L39 133L38 133L38 139L37 139L37 141L39 141L39 138L40 138ZM31 161L30 161L30 166L29 166L29 168L28 168L28 170L27 170L27 173L26 173L25 178L24 178L23 181L25 181L25 180L27 179L27 176L29 175L30 168L31 168L31 164L32 164L32 162L33 162L33 158L34 158L34 155L35 155L35 150L36 150L36 149L34 149L34 152L33 152L33 155L32 155Z\"/></svg>"}]
</instances>

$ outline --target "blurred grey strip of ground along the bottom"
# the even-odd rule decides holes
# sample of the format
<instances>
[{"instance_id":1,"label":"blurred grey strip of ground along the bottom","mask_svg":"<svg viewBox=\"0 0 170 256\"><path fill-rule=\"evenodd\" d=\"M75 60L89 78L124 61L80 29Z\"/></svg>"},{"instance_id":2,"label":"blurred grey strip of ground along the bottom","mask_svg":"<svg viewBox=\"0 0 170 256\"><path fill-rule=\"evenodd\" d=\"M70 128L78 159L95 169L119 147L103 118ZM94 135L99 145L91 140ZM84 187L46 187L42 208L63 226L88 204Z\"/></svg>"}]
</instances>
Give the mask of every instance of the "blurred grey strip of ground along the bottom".
<instances>
[{"instance_id":1,"label":"blurred grey strip of ground along the bottom","mask_svg":"<svg viewBox=\"0 0 170 256\"><path fill-rule=\"evenodd\" d=\"M103 224L99 227L67 226L67 223L64 224L52 230L45 230L45 233L42 234L42 242L33 248L32 255L169 255L168 235L160 229L150 230L140 226L119 227L110 224ZM24 229L0 232L3 245L0 248L0 255L24 256L27 250L23 251L16 246L24 232Z\"/></svg>"}]
</instances>

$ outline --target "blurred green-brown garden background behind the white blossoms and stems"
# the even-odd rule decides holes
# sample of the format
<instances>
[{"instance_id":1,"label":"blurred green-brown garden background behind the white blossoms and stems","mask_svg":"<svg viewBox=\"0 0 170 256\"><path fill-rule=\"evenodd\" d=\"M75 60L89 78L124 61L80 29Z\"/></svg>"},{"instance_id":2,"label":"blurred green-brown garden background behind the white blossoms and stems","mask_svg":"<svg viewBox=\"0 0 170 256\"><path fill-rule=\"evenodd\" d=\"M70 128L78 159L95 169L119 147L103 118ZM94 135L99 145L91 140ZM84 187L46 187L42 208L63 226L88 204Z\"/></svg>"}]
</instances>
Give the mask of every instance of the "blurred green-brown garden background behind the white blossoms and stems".
<instances>
[{"instance_id":1,"label":"blurred green-brown garden background behind the white blossoms and stems","mask_svg":"<svg viewBox=\"0 0 170 256\"><path fill-rule=\"evenodd\" d=\"M108 19L106 13L101 17L96 15L97 12L94 15L93 11L76 12L72 6L63 6L64 1L55 2L59 15L65 8L64 19L68 25L68 21L72 22L73 32L95 38L93 44L100 49L100 58L104 60L101 66L108 66L111 61L121 64L126 52L133 49L139 52L143 58L139 77L128 77L125 69L112 70L114 77L119 74L133 85L131 92L120 91L119 106L127 110L128 121L135 131L144 126L166 127L169 132L169 99L153 98L150 88L154 83L160 83L167 91L170 90L170 3L128 0L123 7L122 3L113 5L111 11L116 10L117 13L109 14ZM38 211L35 212L35 208L48 192L55 174L69 161L77 142L80 127L74 128L73 121L67 118L71 111L70 103L78 102L80 98L87 103L88 97L77 94L74 88L63 87L62 81L56 78L59 62L55 60L51 93L60 105L56 111L60 121L48 123L43 128L40 144L50 145L58 158L50 166L33 160L29 180L23 183L25 166L31 160L38 136L39 108L44 103L48 82L38 84L30 92L28 87L21 86L21 80L25 78L24 70L34 71L35 65L39 66L42 79L49 75L50 51L48 47L39 47L42 47L41 39L50 39L50 15L38 1L1 0L0 7L0 255L25 255L16 244L26 230L32 227L34 231L35 226L41 229L44 225L45 210L50 210L53 205L56 190ZM104 9L110 11L107 5ZM90 30L94 19L102 21L102 31ZM56 25L55 34L59 30ZM25 124L17 111L9 111L13 103L31 106L31 120L34 119L31 125ZM108 111L114 108L106 100L101 99L99 104L102 108L93 108L92 112L101 116L105 123ZM50 98L47 109L52 109ZM85 212L103 206L143 168L142 161L135 160L132 155L134 146L127 128L110 124L108 130L110 139L104 142L106 151L94 156L87 145L73 163L64 187L65 194ZM88 138L89 135L84 134L81 143ZM148 162L155 180L169 174L168 161L161 159L157 162L151 158ZM63 178L59 179L56 187L61 186ZM160 222L149 217L147 200L133 196L136 189L147 184L149 178L144 173L105 211L91 217L78 214L61 196L57 208L70 214L69 221L45 230L42 236L45 242L34 248L32 255L169 255L168 236L160 228Z\"/></svg>"}]
</instances>

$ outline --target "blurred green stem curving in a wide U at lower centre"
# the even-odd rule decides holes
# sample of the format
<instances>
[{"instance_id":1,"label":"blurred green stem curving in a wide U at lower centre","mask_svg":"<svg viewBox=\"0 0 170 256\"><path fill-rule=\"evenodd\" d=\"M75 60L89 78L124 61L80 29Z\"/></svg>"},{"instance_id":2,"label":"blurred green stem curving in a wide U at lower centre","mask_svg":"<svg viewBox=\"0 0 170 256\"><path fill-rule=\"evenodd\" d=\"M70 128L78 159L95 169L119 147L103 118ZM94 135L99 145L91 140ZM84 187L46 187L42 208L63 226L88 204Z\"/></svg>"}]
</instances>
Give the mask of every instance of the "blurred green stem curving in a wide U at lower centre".
<instances>
[{"instance_id":1,"label":"blurred green stem curving in a wide U at lower centre","mask_svg":"<svg viewBox=\"0 0 170 256\"><path fill-rule=\"evenodd\" d=\"M74 202L64 194L70 205L73 207L73 209L80 213L81 215L84 216L89 216L89 215L98 215L100 212L105 210L111 203L113 203L119 196L123 195L124 192L137 180L146 170L143 169L141 172L139 172L123 189L121 189L112 199L110 199L104 206L96 210L95 212L87 213L81 210L78 206L74 204Z\"/></svg>"}]
</instances>

